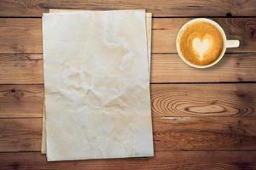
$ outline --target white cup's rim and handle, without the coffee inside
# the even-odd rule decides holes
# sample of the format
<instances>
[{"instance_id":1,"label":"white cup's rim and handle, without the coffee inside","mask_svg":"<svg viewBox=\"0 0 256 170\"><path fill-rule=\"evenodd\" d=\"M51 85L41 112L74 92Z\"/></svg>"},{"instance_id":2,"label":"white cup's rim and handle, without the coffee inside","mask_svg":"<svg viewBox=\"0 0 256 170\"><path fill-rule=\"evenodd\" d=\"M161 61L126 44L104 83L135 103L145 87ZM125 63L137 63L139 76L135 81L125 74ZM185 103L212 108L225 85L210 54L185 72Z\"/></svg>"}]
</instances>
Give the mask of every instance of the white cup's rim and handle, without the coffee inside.
<instances>
[{"instance_id":1,"label":"white cup's rim and handle, without the coffee inside","mask_svg":"<svg viewBox=\"0 0 256 170\"><path fill-rule=\"evenodd\" d=\"M180 41L180 36L181 36L181 33L183 32L183 30L189 26L190 24L194 23L194 22L197 22L197 21L205 21L205 22L208 22L210 24L212 24L213 26L215 26L216 28L218 28L218 31L220 31L221 35L222 35L222 38L223 38L223 42L224 42L224 47L222 49L222 52L221 54L218 56L218 59L216 59L215 61L213 61L212 63L210 63L209 65L194 65L192 63L190 63L184 56L183 54L181 53L181 50L180 50L180 47L179 47L179 41ZM215 21L213 20L210 20L210 19L206 19L206 18L198 18L198 19L194 19L194 20L189 20L187 23L185 23L181 29L178 31L177 33L177 40L176 40L176 48L177 48L177 54L178 56L183 59L183 61L192 66L192 67L195 67L195 68L207 68L207 67L210 67L212 65L216 65L218 63L218 61L220 59L223 58L224 56L224 53L226 52L226 48L238 48L239 47L239 40L227 40L227 37L225 35L225 32L224 30L222 29L221 26L218 25L218 23L216 23Z\"/></svg>"}]
</instances>

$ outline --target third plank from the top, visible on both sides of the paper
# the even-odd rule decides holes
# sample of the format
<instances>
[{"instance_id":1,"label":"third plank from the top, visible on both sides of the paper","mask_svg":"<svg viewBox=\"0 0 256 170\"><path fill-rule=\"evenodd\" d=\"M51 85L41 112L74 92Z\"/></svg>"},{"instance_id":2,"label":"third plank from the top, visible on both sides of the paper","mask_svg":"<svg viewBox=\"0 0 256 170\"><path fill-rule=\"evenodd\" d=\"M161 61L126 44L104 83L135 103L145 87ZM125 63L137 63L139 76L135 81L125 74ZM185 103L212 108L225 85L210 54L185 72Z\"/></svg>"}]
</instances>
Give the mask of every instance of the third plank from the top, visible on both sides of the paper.
<instances>
[{"instance_id":1,"label":"third plank from the top, visible on both sides of the paper","mask_svg":"<svg viewBox=\"0 0 256 170\"><path fill-rule=\"evenodd\" d=\"M255 54L225 54L218 65L194 69L177 54L153 54L151 82L255 82ZM191 77L193 75L193 77ZM0 54L0 84L44 83L42 54Z\"/></svg>"}]
</instances>

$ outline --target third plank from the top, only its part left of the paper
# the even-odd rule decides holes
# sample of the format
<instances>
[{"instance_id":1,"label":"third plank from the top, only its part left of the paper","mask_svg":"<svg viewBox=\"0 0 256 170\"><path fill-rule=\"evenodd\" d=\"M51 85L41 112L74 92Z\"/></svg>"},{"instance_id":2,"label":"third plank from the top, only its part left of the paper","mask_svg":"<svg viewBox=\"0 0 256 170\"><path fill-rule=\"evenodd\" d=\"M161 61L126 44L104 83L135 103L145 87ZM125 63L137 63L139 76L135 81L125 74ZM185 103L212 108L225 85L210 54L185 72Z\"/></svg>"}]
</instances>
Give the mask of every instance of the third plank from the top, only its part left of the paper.
<instances>
[{"instance_id":1,"label":"third plank from the top, only its part left of the paper","mask_svg":"<svg viewBox=\"0 0 256 170\"><path fill-rule=\"evenodd\" d=\"M1 83L42 83L42 54L0 54Z\"/></svg>"}]
</instances>

